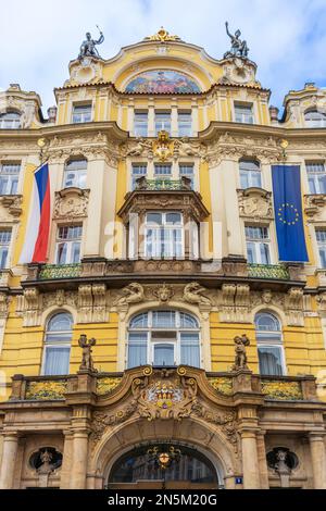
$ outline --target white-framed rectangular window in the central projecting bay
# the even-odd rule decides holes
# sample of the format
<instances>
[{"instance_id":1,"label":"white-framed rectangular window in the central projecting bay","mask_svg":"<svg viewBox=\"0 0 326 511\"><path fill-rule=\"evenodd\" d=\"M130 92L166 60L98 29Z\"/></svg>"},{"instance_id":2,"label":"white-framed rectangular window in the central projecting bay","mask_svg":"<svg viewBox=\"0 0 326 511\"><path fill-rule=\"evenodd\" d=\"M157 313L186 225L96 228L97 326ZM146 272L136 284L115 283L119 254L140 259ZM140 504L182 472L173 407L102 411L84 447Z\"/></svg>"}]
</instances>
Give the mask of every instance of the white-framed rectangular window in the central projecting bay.
<instances>
[{"instance_id":1,"label":"white-framed rectangular window in the central projecting bay","mask_svg":"<svg viewBox=\"0 0 326 511\"><path fill-rule=\"evenodd\" d=\"M146 215L146 257L184 257L184 227L180 213L148 213Z\"/></svg>"}]
</instances>

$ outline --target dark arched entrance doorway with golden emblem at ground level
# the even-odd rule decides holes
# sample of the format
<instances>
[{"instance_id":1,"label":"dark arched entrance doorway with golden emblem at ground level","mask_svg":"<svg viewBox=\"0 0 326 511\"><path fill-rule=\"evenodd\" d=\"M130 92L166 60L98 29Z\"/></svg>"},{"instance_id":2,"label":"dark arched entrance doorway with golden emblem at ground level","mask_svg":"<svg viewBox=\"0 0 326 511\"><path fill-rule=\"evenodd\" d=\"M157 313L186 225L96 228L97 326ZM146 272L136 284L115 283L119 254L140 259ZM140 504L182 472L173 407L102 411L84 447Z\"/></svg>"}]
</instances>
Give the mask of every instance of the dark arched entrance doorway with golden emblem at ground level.
<instances>
[{"instance_id":1,"label":"dark arched entrance doorway with golden emblem at ground level","mask_svg":"<svg viewBox=\"0 0 326 511\"><path fill-rule=\"evenodd\" d=\"M216 489L222 487L213 463L180 443L143 444L120 457L108 479L110 489Z\"/></svg>"}]
</instances>

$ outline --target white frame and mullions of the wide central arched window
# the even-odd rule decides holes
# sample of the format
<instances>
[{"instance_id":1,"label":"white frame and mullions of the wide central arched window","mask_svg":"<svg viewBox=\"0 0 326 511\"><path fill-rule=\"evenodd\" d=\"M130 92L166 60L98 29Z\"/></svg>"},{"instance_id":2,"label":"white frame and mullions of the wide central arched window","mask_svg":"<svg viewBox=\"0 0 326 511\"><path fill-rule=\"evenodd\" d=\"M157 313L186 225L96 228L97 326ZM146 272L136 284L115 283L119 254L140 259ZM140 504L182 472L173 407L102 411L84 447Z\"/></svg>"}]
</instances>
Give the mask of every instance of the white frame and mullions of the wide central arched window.
<instances>
[{"instance_id":1,"label":"white frame and mullions of the wide central arched window","mask_svg":"<svg viewBox=\"0 0 326 511\"><path fill-rule=\"evenodd\" d=\"M153 313L156 313L156 312L172 312L174 313L174 317L175 317L175 322L174 322L174 326L154 326L154 323L153 323ZM136 317L140 317L141 315L143 314L147 314L147 325L143 326L143 325L140 325L139 327L133 327L130 326L131 325L131 322L133 320L135 320ZM181 326L181 314L186 314L188 316L190 316L192 320L196 321L197 325L195 327L190 327L190 326ZM151 310L148 310L143 313L138 313L136 315L134 315L129 323L128 323L128 327L127 327L127 344L126 344L126 369L131 369L131 366L129 366L129 346L130 346L130 334L143 334L143 337L146 336L147 337L147 340L146 340L146 344L147 344L147 350L146 350L146 354L147 354L147 362L146 364L150 364L150 365L154 365L154 354L155 354L155 346L158 345L173 345L174 346L174 365L180 365L181 363L184 363L186 365L185 362L181 362L181 336L183 334L195 334L197 335L197 345L196 347L198 348L198 359L199 359L199 367L202 367L202 347L201 347L201 325L200 325L200 322L198 320L197 316L195 316L192 313L190 312L186 312L186 311L180 311L180 310L173 310L173 309L151 309ZM171 334L171 337L170 338L156 338L154 339L153 338L153 334L161 334L161 333L166 333L166 334ZM175 339L172 338L172 336L175 336ZM145 365L146 365L145 364ZM134 367L134 366L133 366Z\"/></svg>"}]
</instances>

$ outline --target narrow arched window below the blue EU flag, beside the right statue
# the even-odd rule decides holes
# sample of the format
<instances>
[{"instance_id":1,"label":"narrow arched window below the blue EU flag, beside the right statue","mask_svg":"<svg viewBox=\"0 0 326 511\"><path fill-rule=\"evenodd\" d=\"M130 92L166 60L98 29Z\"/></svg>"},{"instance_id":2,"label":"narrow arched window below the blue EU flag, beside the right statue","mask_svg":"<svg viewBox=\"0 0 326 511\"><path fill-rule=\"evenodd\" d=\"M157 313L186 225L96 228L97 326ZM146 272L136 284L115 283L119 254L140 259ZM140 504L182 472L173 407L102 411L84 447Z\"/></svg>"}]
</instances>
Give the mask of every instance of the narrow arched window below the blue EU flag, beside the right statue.
<instances>
[{"instance_id":1,"label":"narrow arched window below the blue EU flag, beside the right statue","mask_svg":"<svg viewBox=\"0 0 326 511\"><path fill-rule=\"evenodd\" d=\"M280 376L285 373L281 329L277 317L260 312L254 319L260 373Z\"/></svg>"}]
</instances>

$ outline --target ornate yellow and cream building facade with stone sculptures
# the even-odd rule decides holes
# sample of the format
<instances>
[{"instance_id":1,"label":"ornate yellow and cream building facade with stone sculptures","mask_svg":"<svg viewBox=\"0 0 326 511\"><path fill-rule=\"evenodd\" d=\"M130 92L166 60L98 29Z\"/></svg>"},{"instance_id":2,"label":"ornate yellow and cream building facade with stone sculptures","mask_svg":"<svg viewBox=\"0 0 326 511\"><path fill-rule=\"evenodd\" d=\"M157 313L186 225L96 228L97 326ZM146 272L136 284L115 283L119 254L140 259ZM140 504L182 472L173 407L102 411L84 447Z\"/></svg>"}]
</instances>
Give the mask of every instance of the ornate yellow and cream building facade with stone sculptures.
<instances>
[{"instance_id":1,"label":"ornate yellow and cream building facade with stone sculptures","mask_svg":"<svg viewBox=\"0 0 326 511\"><path fill-rule=\"evenodd\" d=\"M0 92L0 487L326 488L325 90L278 119L243 45L87 45L48 119ZM279 260L275 164L305 263Z\"/></svg>"}]
</instances>

